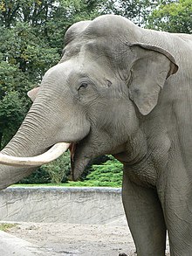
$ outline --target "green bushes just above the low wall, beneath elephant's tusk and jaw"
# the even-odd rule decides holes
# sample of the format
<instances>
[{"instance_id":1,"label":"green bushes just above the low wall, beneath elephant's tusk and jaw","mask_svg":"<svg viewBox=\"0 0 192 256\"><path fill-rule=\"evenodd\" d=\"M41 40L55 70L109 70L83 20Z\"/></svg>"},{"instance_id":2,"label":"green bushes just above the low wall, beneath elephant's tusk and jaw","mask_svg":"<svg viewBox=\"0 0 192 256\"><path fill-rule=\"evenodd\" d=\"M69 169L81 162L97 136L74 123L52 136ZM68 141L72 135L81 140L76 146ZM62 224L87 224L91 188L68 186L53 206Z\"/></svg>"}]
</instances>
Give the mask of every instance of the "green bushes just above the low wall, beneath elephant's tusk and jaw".
<instances>
[{"instance_id":1,"label":"green bushes just above the low wall, beneath elephant's tusk and jaw","mask_svg":"<svg viewBox=\"0 0 192 256\"><path fill-rule=\"evenodd\" d=\"M107 160L108 159L108 160ZM107 161L106 161L107 160ZM106 161L105 163L103 163ZM66 152L57 160L38 168L31 176L24 178L20 183L68 183L73 186L110 186L120 187L122 183L122 163L113 156L102 156L93 160L89 165L89 173L79 182L68 183L70 174L70 153Z\"/></svg>"}]
</instances>

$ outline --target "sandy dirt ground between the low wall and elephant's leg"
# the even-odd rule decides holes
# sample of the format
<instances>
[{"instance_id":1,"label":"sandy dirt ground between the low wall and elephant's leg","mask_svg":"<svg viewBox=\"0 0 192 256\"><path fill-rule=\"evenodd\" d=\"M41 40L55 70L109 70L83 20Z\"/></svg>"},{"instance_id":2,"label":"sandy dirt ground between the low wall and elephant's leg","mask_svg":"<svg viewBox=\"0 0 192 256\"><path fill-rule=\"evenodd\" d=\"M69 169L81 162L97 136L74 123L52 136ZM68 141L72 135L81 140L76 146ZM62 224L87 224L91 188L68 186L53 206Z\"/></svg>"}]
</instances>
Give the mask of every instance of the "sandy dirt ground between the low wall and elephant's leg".
<instances>
[{"instance_id":1,"label":"sandy dirt ground between the low wall and elephant's leg","mask_svg":"<svg viewBox=\"0 0 192 256\"><path fill-rule=\"evenodd\" d=\"M72 225L19 223L10 234L38 245L51 256L118 256L134 253L134 241L126 225Z\"/></svg>"}]
</instances>

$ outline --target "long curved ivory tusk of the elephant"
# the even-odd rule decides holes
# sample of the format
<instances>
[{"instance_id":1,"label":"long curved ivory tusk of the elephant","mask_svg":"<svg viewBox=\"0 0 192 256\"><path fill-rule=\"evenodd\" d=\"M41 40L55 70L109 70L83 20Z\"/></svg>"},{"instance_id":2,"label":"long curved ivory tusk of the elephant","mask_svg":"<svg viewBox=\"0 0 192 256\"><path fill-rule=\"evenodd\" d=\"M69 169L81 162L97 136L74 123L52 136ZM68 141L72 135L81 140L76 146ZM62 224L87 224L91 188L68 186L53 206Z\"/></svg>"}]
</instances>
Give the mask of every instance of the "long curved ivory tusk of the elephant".
<instances>
[{"instance_id":1,"label":"long curved ivory tusk of the elephant","mask_svg":"<svg viewBox=\"0 0 192 256\"><path fill-rule=\"evenodd\" d=\"M59 142L44 154L32 157L7 156L0 153L0 163L11 166L40 166L61 156L70 146L70 143Z\"/></svg>"}]
</instances>

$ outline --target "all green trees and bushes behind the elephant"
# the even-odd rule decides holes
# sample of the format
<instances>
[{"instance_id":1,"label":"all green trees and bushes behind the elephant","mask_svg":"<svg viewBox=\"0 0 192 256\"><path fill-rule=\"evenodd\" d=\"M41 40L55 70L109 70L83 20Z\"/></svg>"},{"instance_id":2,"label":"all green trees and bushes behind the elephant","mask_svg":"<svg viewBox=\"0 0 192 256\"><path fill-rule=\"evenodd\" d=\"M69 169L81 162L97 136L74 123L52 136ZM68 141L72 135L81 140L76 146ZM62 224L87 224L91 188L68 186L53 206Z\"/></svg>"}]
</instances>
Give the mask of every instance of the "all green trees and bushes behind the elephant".
<instances>
[{"instance_id":1,"label":"all green trees and bushes behind the elephant","mask_svg":"<svg viewBox=\"0 0 192 256\"><path fill-rule=\"evenodd\" d=\"M27 91L37 86L61 57L65 31L79 20L107 13L150 29L192 31L191 0L0 1L0 149L10 141L31 106ZM89 165L82 176L85 184L120 185L121 164L104 158ZM69 172L68 154L42 166L23 183L67 182Z\"/></svg>"}]
</instances>

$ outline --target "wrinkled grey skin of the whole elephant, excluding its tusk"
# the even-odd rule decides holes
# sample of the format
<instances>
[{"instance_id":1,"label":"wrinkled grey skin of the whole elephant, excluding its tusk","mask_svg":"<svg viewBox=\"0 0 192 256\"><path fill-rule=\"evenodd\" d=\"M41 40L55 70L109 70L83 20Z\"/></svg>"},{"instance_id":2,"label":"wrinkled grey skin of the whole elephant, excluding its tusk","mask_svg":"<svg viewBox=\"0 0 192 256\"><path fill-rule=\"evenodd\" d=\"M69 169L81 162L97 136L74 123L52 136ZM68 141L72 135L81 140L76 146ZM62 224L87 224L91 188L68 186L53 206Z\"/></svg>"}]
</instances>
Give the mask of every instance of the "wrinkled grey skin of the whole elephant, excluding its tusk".
<instances>
[{"instance_id":1,"label":"wrinkled grey skin of the whole elephant, excluding its tusk","mask_svg":"<svg viewBox=\"0 0 192 256\"><path fill-rule=\"evenodd\" d=\"M191 256L192 36L109 15L73 24L64 52L3 152L36 156L78 142L75 180L90 159L113 154L124 163L123 204L138 255L164 255L168 230L171 255ZM31 171L1 165L0 188Z\"/></svg>"}]
</instances>

